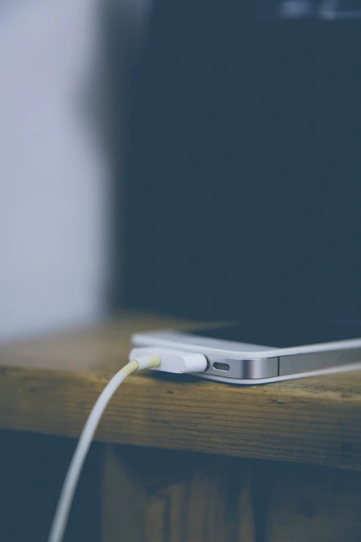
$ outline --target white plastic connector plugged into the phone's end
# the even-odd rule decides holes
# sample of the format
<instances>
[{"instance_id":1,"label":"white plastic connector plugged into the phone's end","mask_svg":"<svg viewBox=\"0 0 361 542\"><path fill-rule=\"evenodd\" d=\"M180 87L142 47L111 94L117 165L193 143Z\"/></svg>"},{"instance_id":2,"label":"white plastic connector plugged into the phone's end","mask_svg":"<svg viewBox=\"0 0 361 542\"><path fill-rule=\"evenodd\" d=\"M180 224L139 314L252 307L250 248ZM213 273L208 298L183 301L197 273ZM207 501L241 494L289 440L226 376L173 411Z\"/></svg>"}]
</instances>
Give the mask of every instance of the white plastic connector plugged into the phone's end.
<instances>
[{"instance_id":1,"label":"white plastic connector plugged into the phone's end","mask_svg":"<svg viewBox=\"0 0 361 542\"><path fill-rule=\"evenodd\" d=\"M207 359L203 354L168 350L167 348L139 347L133 348L129 360L137 361L139 368L144 364L149 368L149 361L158 359L158 365L152 369L182 374L185 372L203 372L207 369Z\"/></svg>"}]
</instances>

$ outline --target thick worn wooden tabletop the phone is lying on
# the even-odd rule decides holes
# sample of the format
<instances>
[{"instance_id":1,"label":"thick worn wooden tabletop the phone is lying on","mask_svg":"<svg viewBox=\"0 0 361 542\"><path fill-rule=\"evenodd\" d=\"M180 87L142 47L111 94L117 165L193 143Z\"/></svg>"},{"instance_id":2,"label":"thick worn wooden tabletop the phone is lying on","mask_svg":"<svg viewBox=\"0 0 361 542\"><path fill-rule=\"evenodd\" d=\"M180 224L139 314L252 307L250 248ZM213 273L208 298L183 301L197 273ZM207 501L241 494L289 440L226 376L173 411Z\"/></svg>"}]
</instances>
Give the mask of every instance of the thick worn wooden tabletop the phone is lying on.
<instances>
[{"instance_id":1,"label":"thick worn wooden tabletop the phone is lying on","mask_svg":"<svg viewBox=\"0 0 361 542\"><path fill-rule=\"evenodd\" d=\"M174 325L124 316L95 330L0 347L0 427L77 437L129 335ZM98 440L361 469L361 372L241 388L136 374L113 397Z\"/></svg>"}]
</instances>

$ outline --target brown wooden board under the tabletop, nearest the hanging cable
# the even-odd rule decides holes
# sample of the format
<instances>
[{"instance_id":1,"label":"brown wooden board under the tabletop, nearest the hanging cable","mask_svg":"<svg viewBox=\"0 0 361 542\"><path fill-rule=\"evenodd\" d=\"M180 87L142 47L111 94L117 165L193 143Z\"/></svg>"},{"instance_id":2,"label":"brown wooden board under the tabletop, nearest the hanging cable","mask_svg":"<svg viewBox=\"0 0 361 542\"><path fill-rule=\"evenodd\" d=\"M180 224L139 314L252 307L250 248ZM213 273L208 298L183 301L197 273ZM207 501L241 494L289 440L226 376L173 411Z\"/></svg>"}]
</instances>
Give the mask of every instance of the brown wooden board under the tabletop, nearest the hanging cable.
<instances>
[{"instance_id":1,"label":"brown wooden board under the tabletop, nearest the hanging cable","mask_svg":"<svg viewBox=\"0 0 361 542\"><path fill-rule=\"evenodd\" d=\"M241 461L109 446L102 542L252 542L249 480Z\"/></svg>"}]
</instances>

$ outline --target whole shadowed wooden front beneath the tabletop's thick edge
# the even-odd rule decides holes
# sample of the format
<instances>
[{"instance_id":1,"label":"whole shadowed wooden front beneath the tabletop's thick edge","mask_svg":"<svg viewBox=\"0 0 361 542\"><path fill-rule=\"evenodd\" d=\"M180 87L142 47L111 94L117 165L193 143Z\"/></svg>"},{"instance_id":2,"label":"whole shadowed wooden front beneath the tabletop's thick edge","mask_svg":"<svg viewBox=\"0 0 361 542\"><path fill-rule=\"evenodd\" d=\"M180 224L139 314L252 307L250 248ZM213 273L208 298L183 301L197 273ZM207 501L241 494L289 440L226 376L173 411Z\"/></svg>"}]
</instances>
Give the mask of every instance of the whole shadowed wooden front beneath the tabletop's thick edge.
<instances>
[{"instance_id":1,"label":"whole shadowed wooden front beneath the tabletop's thick edge","mask_svg":"<svg viewBox=\"0 0 361 542\"><path fill-rule=\"evenodd\" d=\"M359 542L361 473L109 446L102 542Z\"/></svg>"}]
</instances>

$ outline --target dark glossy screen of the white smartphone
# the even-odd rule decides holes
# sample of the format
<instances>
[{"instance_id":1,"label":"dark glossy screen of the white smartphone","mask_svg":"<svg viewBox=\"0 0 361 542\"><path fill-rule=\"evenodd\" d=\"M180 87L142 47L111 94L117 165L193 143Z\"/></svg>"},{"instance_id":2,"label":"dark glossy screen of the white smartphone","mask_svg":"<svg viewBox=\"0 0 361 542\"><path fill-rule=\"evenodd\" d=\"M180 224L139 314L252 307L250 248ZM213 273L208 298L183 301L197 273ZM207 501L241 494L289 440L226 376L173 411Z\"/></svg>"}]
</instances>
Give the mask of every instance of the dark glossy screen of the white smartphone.
<instances>
[{"instance_id":1,"label":"dark glossy screen of the white smartphone","mask_svg":"<svg viewBox=\"0 0 361 542\"><path fill-rule=\"evenodd\" d=\"M361 337L361 320L284 320L275 318L252 321L250 318L189 332L192 335L218 338L275 348L346 341Z\"/></svg>"}]
</instances>

